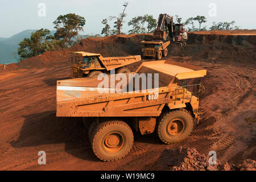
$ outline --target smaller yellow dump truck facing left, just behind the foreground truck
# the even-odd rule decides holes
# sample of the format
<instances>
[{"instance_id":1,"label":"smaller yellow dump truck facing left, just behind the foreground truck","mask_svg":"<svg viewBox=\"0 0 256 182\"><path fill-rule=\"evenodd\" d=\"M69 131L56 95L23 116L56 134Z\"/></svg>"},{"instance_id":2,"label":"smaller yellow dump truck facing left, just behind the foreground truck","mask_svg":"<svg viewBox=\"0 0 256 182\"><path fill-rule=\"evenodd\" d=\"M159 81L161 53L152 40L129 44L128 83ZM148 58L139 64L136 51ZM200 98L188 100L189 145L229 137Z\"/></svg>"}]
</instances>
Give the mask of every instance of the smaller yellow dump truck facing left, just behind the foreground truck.
<instances>
[{"instance_id":1,"label":"smaller yellow dump truck facing left, just behind the foreground truck","mask_svg":"<svg viewBox=\"0 0 256 182\"><path fill-rule=\"evenodd\" d=\"M130 72L126 65L141 61L141 56L103 57L99 53L72 52L72 78L94 77L111 69L117 69L118 73Z\"/></svg>"}]
</instances>

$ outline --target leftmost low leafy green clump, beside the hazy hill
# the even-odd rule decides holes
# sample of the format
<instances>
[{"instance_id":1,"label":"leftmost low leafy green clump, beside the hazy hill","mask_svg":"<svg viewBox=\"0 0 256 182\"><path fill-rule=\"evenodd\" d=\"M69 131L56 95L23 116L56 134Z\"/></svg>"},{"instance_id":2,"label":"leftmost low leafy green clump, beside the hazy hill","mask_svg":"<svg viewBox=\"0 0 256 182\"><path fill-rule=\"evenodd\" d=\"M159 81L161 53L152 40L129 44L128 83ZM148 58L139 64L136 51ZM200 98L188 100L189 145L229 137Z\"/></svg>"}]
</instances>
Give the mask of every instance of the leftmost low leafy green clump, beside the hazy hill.
<instances>
[{"instance_id":1,"label":"leftmost low leafy green clump, beside the hazy hill","mask_svg":"<svg viewBox=\"0 0 256 182\"><path fill-rule=\"evenodd\" d=\"M46 51L57 51L64 46L63 42L56 40L54 36L49 34L48 29L42 28L32 33L30 38L24 38L18 47L20 59L37 56Z\"/></svg>"}]
</instances>

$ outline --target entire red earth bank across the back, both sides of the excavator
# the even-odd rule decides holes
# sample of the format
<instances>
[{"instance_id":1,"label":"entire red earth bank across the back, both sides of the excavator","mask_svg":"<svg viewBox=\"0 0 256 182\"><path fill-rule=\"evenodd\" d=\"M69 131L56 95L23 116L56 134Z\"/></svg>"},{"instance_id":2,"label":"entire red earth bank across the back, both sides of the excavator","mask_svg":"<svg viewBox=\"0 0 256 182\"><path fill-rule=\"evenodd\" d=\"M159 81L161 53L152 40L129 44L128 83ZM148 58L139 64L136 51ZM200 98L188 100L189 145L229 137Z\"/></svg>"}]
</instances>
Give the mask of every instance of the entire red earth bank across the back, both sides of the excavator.
<instances>
[{"instance_id":1,"label":"entire red earth bank across the back, both sides of the excavator","mask_svg":"<svg viewBox=\"0 0 256 182\"><path fill-rule=\"evenodd\" d=\"M201 32L201 33L200 33ZM233 32L233 33L232 33ZM141 41L152 40L152 34L114 35L102 38L87 38L68 51L101 53L102 56L141 55ZM43 55L8 64L5 72L16 69L42 68L45 64L68 62L68 51L45 52ZM256 60L256 31L198 31L189 32L187 46L171 44L170 56L192 56L194 60L204 59L209 63L241 64ZM0 64L0 73L3 72Z\"/></svg>"}]
</instances>

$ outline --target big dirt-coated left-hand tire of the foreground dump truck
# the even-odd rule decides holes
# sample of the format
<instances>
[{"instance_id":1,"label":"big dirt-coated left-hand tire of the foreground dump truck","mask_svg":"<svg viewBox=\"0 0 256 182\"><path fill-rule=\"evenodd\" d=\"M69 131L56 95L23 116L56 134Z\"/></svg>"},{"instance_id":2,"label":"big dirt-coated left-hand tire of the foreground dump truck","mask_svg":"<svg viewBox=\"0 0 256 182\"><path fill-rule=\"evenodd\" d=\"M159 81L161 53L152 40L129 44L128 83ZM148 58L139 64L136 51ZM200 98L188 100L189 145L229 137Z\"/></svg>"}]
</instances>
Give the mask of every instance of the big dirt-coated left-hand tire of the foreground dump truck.
<instances>
[{"instance_id":1,"label":"big dirt-coated left-hand tire of the foreground dump truck","mask_svg":"<svg viewBox=\"0 0 256 182\"><path fill-rule=\"evenodd\" d=\"M101 160L122 159L133 147L133 131L123 121L99 123L92 131L91 145L94 154Z\"/></svg>"}]
</instances>

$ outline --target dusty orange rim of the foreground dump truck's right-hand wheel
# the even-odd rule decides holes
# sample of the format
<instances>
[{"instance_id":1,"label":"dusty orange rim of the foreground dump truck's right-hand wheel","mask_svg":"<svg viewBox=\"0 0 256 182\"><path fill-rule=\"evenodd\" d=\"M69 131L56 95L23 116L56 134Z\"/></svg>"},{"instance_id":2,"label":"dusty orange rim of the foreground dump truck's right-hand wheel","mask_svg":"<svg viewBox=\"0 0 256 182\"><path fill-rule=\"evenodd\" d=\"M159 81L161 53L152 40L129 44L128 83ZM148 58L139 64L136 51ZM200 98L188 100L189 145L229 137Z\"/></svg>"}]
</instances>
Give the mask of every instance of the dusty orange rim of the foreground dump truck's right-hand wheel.
<instances>
[{"instance_id":1,"label":"dusty orange rim of the foreground dump truck's right-hand wheel","mask_svg":"<svg viewBox=\"0 0 256 182\"><path fill-rule=\"evenodd\" d=\"M174 118L168 122L166 130L171 137L177 137L183 133L185 129L185 122L181 118Z\"/></svg>"}]
</instances>

